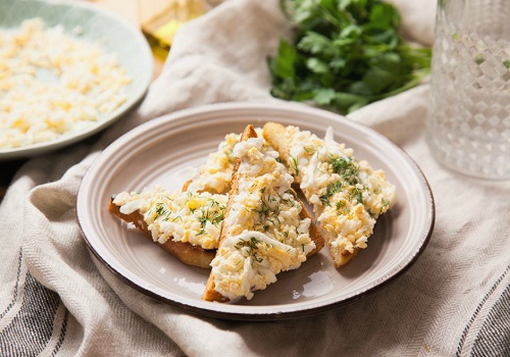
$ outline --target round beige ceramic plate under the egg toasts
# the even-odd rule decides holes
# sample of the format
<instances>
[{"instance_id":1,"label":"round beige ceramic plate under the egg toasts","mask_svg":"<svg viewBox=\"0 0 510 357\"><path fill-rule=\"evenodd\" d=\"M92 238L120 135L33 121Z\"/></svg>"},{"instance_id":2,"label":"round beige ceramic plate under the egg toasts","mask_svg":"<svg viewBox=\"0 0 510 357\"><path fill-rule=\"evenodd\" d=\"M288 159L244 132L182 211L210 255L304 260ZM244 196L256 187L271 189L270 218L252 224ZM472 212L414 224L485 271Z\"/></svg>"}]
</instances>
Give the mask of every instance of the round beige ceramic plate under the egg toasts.
<instances>
[{"instance_id":1,"label":"round beige ceramic plate under the egg toasts","mask_svg":"<svg viewBox=\"0 0 510 357\"><path fill-rule=\"evenodd\" d=\"M398 201L378 222L368 248L335 269L327 249L255 293L251 301L202 301L208 272L190 268L108 211L112 194L154 184L179 189L188 167L198 166L225 134L267 121L299 125L318 135L331 126L337 141L359 159L382 168L396 185ZM230 319L277 319L309 315L352 300L396 277L422 252L434 224L434 203L419 168L375 131L336 114L298 104L232 103L183 110L128 132L95 161L77 202L78 220L90 250L130 285L193 312Z\"/></svg>"}]
</instances>

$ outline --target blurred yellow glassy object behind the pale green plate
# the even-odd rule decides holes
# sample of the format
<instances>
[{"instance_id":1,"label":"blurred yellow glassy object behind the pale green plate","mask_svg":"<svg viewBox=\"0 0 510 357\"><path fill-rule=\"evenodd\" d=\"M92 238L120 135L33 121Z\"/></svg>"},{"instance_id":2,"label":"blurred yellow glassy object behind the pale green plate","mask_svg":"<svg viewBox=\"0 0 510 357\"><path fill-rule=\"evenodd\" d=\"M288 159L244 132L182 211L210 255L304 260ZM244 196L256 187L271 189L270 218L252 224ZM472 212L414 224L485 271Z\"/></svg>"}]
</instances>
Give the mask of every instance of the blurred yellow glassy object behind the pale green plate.
<instances>
[{"instance_id":1,"label":"blurred yellow glassy object behind the pale green plate","mask_svg":"<svg viewBox=\"0 0 510 357\"><path fill-rule=\"evenodd\" d=\"M203 15L210 8L202 0L139 0L142 31L154 55L162 60L168 55L177 30L187 21ZM148 14L150 14L148 16Z\"/></svg>"}]
</instances>

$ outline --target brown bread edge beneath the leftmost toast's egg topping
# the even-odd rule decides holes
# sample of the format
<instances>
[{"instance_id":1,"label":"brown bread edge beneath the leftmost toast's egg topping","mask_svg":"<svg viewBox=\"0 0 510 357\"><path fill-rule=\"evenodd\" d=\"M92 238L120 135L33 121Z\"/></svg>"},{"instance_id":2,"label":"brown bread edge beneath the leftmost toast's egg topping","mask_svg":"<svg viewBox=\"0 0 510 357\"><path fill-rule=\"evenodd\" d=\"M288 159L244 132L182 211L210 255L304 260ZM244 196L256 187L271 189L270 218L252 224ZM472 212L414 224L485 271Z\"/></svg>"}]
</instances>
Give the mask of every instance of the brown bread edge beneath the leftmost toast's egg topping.
<instances>
[{"instance_id":1,"label":"brown bread edge beneath the leftmost toast's egg topping","mask_svg":"<svg viewBox=\"0 0 510 357\"><path fill-rule=\"evenodd\" d=\"M143 215L137 210L131 214L123 214L120 207L113 203L113 197L110 200L108 210L116 217L125 222L133 223L136 228L142 231L147 238L152 241L152 235L143 219ZM172 254L184 264L197 266L200 268L210 268L209 264L216 254L215 249L203 249L189 243L174 242L169 239L163 244L158 244L166 252Z\"/></svg>"}]
</instances>

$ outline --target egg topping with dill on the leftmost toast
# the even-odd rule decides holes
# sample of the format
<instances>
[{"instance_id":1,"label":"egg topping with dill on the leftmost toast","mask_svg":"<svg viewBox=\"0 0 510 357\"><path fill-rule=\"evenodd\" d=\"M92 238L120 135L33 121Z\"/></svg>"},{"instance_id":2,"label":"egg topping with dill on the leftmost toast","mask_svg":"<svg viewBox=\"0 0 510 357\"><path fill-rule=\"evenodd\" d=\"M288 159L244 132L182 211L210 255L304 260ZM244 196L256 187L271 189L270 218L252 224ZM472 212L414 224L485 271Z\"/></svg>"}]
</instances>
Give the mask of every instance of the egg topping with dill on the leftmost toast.
<instances>
[{"instance_id":1,"label":"egg topping with dill on the leftmost toast","mask_svg":"<svg viewBox=\"0 0 510 357\"><path fill-rule=\"evenodd\" d=\"M139 211L155 242L190 243L204 249L218 248L227 196L177 192L161 187L142 193L122 192L113 203L123 214Z\"/></svg>"}]
</instances>

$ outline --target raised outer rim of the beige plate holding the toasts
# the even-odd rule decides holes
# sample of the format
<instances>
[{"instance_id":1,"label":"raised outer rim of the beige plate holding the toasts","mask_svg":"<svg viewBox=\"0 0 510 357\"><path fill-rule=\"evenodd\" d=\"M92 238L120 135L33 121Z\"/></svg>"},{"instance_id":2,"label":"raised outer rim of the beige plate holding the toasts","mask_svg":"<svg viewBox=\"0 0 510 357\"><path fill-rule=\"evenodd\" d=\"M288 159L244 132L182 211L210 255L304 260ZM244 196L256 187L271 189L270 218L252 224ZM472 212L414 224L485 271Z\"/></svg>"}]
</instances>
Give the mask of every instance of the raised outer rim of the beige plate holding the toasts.
<instances>
[{"instance_id":1,"label":"raised outer rim of the beige plate holding the toasts","mask_svg":"<svg viewBox=\"0 0 510 357\"><path fill-rule=\"evenodd\" d=\"M421 243L419 248L412 253L412 256L410 255L410 259L405 263L401 264L400 266L396 267L396 271L388 274L387 276L383 276L379 279L379 281L372 283L370 286L358 290L353 295L340 299L339 301L331 302L331 303L325 303L324 305L310 307L310 308L298 308L295 310L290 311L280 311L280 312L264 312L264 311L250 311L250 312L231 312L231 311L219 311L214 308L214 305L211 304L211 308L204 308L195 306L192 304L187 304L185 302L176 301L164 296L161 296L149 289L144 288L143 286L138 285L136 282L132 281L129 277L125 276L122 272L115 269L108 261L106 261L105 258L103 258L100 253L94 248L93 244L89 241L87 238L85 231L83 229L83 224L81 222L81 206L85 204L86 198L83 197L84 195L84 189L83 187L87 184L88 181L90 181L90 176L93 172L93 167L96 165L99 165L103 161L105 157L111 152L115 151L116 147L119 146L123 141L126 140L126 138L137 136L145 131L150 130L153 127L158 127L160 125L163 125L164 123L167 123L169 121L173 121L176 119L182 119L188 116L198 115L198 114L205 114L207 112L224 112L224 111L237 111L237 110L249 110L249 111L275 111L275 110L283 110L287 112L296 112L296 110L300 112L306 112L306 114L310 114L312 116L320 116L322 118L328 118L332 119L333 121L339 121L343 124L354 126L356 129L361 129L361 131L369 131L371 134L377 136L379 139L382 139L383 141L386 141L386 143L390 146L393 146L394 149L400 152L402 154L402 157L404 160L406 160L406 163L409 165L409 167L413 170L413 173L416 174L417 178L421 181L422 185L421 188L423 189L423 193L425 195L425 200L428 202L428 211L425 214L425 217L427 218L427 222L429 224L428 229L423 230L423 234L421 234ZM85 209L85 208L83 208ZM345 117L342 117L336 113L328 112L323 109L318 108L312 108L308 107L306 105L300 104L300 103L285 103L285 102L266 102L266 103L257 103L257 102L229 102L229 103L215 103L215 104L208 104L198 107L192 107L192 108L186 108L179 111L172 112L170 114L166 114L163 116L160 116L158 118L152 119L146 123L143 123L132 130L124 133L122 136L117 138L115 141L113 141L110 145L108 145L102 153L99 155L99 157L94 161L94 163L88 168L87 172L85 173L78 190L77 200L76 200L76 211L77 211L77 221L79 225L80 232L82 234L82 237L89 249L89 251L92 253L92 256L95 258L94 261L101 262L111 273L113 273L116 277L120 278L123 282L127 283L128 286L135 288L136 290L144 293L147 296L150 296L160 302L168 303L173 306L180 307L188 312L191 312L193 314L198 314L200 316L208 316L208 317L214 317L214 318L220 318L220 319L227 319L227 320L238 320L238 321L272 321L272 320L282 320L282 319L295 319L300 317L307 317L311 315L315 315L324 311L328 311L334 308L338 308L340 306L349 304L355 300L358 300L359 298L371 294L375 291L378 291L379 289L387 286L392 281L395 281L396 278L401 276L403 273L405 273L415 262L416 260L421 256L425 248L427 247L430 238L432 236L432 232L435 226L435 220L436 220L436 213L435 213L435 200L434 196L430 187L430 184L428 183L425 175L423 174L423 171L421 168L416 164L416 162L413 160L413 158L405 151L403 150L399 145L393 143L390 139L385 137L384 135L376 132L372 128L369 128L367 126L364 126L360 123L353 122ZM261 306L263 307L263 306Z\"/></svg>"}]
</instances>

